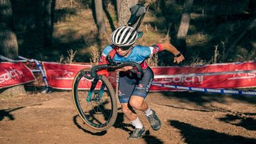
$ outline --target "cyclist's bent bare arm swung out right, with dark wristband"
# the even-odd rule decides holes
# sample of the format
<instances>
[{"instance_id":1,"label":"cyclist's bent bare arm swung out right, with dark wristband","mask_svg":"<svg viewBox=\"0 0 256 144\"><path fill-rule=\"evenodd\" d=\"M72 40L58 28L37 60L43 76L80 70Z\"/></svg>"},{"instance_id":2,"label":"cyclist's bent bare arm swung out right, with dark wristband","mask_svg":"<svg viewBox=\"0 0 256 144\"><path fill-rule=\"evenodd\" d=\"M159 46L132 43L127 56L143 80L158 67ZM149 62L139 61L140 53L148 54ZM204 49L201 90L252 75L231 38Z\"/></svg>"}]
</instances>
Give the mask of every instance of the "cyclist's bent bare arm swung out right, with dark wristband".
<instances>
[{"instance_id":1,"label":"cyclist's bent bare arm swung out right, with dark wristband","mask_svg":"<svg viewBox=\"0 0 256 144\"><path fill-rule=\"evenodd\" d=\"M166 51L172 52L172 54L174 55L173 63L175 62L180 63L180 61L184 60L184 56L172 44L166 42L166 43L156 44L156 45L159 47L159 49L161 49L161 51L166 50Z\"/></svg>"}]
</instances>

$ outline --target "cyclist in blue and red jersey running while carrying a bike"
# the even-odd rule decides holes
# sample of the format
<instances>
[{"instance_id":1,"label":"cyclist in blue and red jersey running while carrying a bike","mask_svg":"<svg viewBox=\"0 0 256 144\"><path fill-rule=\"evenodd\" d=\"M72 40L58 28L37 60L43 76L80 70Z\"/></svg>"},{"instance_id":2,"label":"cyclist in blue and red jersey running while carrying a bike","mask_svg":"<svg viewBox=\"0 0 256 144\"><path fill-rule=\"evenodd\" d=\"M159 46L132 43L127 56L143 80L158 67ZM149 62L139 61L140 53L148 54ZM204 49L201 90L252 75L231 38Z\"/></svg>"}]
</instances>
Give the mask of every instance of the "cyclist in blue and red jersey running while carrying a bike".
<instances>
[{"instance_id":1,"label":"cyclist in blue and red jersey running while carrying a bike","mask_svg":"<svg viewBox=\"0 0 256 144\"><path fill-rule=\"evenodd\" d=\"M134 45L138 38L138 32L131 26L122 26L116 29L111 35L111 43L113 45L108 45L104 48L99 60L99 64L104 64L106 63L106 56L111 55L113 61L134 61L140 63L143 68L144 76L141 80L137 74L130 72L131 66L116 70L120 71L118 98L122 105L122 111L125 117L135 127L134 131L132 131L129 136L131 140L141 138L143 134L145 134L145 127L134 110L143 111L143 113L145 113L154 131L161 128L161 121L157 117L156 112L150 109L147 102L144 101L154 79L154 74L145 60L163 50L170 51L174 54L174 63L180 63L184 60L184 56L172 44L163 43L150 47ZM100 70L97 74L106 74L105 72L104 70Z\"/></svg>"}]
</instances>

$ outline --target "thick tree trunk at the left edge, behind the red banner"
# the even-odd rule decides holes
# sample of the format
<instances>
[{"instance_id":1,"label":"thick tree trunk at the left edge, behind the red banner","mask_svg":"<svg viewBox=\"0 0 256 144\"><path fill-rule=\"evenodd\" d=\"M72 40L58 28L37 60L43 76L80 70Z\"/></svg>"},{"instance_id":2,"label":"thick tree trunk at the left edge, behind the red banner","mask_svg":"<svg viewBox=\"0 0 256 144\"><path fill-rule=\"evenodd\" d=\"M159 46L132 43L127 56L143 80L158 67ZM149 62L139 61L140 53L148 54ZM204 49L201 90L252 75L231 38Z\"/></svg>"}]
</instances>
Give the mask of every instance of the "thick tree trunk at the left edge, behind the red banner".
<instances>
[{"instance_id":1,"label":"thick tree trunk at the left edge, behind the red banner","mask_svg":"<svg viewBox=\"0 0 256 144\"><path fill-rule=\"evenodd\" d=\"M0 0L0 54L13 60L19 56L10 0ZM23 85L19 85L8 88L4 93L7 95L25 93L25 89Z\"/></svg>"}]
</instances>

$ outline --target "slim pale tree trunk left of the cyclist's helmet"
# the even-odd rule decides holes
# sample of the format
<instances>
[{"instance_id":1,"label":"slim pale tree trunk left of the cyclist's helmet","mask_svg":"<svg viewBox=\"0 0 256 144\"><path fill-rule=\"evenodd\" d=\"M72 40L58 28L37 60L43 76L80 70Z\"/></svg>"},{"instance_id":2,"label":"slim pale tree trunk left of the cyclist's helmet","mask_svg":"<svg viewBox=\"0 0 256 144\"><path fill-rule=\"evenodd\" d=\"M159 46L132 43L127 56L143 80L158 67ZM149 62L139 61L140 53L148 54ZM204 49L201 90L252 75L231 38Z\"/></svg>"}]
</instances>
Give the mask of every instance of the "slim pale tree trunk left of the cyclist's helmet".
<instances>
[{"instance_id":1,"label":"slim pale tree trunk left of the cyclist's helmet","mask_svg":"<svg viewBox=\"0 0 256 144\"><path fill-rule=\"evenodd\" d=\"M106 26L103 19L103 8L102 8L102 0L94 0L95 3L95 13L97 20L97 28L99 35L104 35L106 33Z\"/></svg>"}]
</instances>

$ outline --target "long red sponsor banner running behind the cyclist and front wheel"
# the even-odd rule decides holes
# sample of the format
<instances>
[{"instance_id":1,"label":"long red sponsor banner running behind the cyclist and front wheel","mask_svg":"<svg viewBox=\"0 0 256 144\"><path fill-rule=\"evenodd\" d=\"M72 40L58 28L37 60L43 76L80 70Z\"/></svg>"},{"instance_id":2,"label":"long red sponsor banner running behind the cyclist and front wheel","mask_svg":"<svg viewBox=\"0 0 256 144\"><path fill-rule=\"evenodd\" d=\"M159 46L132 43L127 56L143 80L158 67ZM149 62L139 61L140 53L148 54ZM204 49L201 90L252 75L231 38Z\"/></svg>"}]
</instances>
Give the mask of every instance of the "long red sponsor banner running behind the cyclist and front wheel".
<instances>
[{"instance_id":1,"label":"long red sponsor banner running behind the cyclist and front wheel","mask_svg":"<svg viewBox=\"0 0 256 144\"><path fill-rule=\"evenodd\" d=\"M58 89L71 89L72 82L77 72L91 65L43 63L49 86ZM244 74L221 74L215 76L181 76L180 74L196 74L208 72L230 72L240 70L256 70L255 62L244 63L221 63L214 65L204 65L198 67L152 67L154 71L154 81L157 84L167 84L173 86L194 87L194 88L248 88L256 86L256 73ZM179 76L173 76L179 74ZM172 76L172 77L170 77ZM161 78L159 78L161 77ZM116 85L116 73L109 72L109 81ZM87 84L88 88L90 83ZM86 87L86 86L84 86ZM174 88L174 87L173 87ZM171 87L152 85L150 91L171 91L177 90Z\"/></svg>"}]
</instances>

